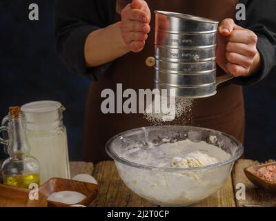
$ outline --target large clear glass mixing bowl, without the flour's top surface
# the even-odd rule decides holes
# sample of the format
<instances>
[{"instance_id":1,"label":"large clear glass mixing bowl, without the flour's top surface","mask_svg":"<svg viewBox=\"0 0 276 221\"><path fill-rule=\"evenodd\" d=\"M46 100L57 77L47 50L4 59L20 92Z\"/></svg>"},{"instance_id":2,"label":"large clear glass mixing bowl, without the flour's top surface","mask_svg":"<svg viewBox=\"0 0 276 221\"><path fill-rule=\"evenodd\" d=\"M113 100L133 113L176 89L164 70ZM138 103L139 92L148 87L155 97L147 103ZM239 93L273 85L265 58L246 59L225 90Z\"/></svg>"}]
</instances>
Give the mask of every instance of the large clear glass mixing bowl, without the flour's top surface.
<instances>
[{"instance_id":1,"label":"large clear glass mixing bowl, without the flour's top surface","mask_svg":"<svg viewBox=\"0 0 276 221\"><path fill-rule=\"evenodd\" d=\"M122 157L126 151L137 147L150 151L152 145L158 148L160 144L186 139L213 144L229 157L197 168L148 166ZM152 126L112 137L106 144L106 151L115 160L124 184L141 198L161 206L188 206L208 198L225 184L244 148L234 137L219 131L191 126ZM216 153L207 154L216 157Z\"/></svg>"}]
</instances>

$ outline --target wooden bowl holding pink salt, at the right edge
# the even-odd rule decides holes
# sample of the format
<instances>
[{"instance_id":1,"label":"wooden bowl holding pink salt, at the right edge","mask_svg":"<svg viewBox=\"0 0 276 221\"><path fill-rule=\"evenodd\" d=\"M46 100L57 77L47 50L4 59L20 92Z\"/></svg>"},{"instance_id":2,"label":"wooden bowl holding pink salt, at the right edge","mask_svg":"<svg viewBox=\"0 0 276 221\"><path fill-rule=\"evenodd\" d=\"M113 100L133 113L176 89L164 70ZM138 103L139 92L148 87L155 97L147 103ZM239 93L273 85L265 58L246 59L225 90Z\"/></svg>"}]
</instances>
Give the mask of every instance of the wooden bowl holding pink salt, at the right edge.
<instances>
[{"instance_id":1,"label":"wooden bowl holding pink salt, at the right edge","mask_svg":"<svg viewBox=\"0 0 276 221\"><path fill-rule=\"evenodd\" d=\"M276 165L276 162L269 164L261 164L259 166L249 166L246 169L244 169L244 173L246 174L248 180L250 180L250 182L252 182L256 186L259 186L270 193L276 193L276 182L270 182L255 174L257 169L271 165Z\"/></svg>"}]
</instances>

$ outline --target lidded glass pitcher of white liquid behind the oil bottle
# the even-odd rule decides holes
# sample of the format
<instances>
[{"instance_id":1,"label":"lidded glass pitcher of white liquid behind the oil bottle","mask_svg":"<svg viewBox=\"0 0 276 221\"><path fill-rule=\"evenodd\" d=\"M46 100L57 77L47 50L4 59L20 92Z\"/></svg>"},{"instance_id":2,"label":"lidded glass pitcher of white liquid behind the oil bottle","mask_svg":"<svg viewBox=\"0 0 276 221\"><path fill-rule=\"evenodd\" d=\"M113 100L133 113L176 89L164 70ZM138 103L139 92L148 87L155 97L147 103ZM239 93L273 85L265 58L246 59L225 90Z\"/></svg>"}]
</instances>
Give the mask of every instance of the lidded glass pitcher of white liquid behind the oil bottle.
<instances>
[{"instance_id":1,"label":"lidded glass pitcher of white liquid behind the oil bottle","mask_svg":"<svg viewBox=\"0 0 276 221\"><path fill-rule=\"evenodd\" d=\"M31 154L41 165L41 184L52 177L70 179L68 142L63 125L65 108L59 102L41 101L21 107Z\"/></svg>"}]
</instances>

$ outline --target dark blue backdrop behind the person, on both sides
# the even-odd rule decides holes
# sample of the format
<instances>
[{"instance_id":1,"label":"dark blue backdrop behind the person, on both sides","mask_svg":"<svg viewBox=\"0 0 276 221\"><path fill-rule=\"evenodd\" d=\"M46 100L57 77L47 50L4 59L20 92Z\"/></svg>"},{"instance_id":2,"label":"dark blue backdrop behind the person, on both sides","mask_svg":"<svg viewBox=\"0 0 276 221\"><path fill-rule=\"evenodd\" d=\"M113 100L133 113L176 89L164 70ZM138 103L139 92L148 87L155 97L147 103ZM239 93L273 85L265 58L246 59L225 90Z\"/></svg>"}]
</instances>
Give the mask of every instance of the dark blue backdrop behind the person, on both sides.
<instances>
[{"instance_id":1,"label":"dark blue backdrop behind the person, on both sides","mask_svg":"<svg viewBox=\"0 0 276 221\"><path fill-rule=\"evenodd\" d=\"M77 0L76 0L77 1ZM30 3L39 21L28 19ZM55 51L53 0L0 1L0 117L8 107L52 99L66 106L70 160L81 160L83 112L90 80L71 73ZM244 90L246 157L276 158L276 71ZM0 151L3 157L3 151Z\"/></svg>"}]
</instances>

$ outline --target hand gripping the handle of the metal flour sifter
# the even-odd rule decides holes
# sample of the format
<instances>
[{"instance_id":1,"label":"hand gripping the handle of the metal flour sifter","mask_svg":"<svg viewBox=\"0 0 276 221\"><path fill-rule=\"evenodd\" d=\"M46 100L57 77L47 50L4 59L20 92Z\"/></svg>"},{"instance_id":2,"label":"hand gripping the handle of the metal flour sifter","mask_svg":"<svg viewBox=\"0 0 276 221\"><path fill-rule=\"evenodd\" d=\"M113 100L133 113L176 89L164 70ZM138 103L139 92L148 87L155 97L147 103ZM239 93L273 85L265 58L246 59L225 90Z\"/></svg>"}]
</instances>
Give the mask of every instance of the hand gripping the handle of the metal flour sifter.
<instances>
[{"instance_id":1,"label":"hand gripping the handle of the metal flour sifter","mask_svg":"<svg viewBox=\"0 0 276 221\"><path fill-rule=\"evenodd\" d=\"M251 30L237 26L233 19L221 21L219 33L217 64L235 77L257 72L261 65L257 35Z\"/></svg>"}]
</instances>

